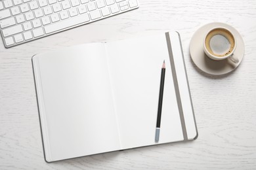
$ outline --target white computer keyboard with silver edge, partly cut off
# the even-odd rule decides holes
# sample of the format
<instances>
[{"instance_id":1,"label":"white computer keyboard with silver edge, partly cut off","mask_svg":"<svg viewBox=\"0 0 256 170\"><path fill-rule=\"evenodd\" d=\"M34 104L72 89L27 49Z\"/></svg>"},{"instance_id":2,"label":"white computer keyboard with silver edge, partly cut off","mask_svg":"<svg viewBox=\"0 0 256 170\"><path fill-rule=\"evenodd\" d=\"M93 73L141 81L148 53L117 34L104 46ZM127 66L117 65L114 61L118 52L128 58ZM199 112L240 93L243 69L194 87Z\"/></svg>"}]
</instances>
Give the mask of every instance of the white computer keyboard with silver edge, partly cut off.
<instances>
[{"instance_id":1,"label":"white computer keyboard with silver edge, partly cut off","mask_svg":"<svg viewBox=\"0 0 256 170\"><path fill-rule=\"evenodd\" d=\"M137 9L137 0L0 0L6 48Z\"/></svg>"}]
</instances>

